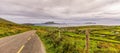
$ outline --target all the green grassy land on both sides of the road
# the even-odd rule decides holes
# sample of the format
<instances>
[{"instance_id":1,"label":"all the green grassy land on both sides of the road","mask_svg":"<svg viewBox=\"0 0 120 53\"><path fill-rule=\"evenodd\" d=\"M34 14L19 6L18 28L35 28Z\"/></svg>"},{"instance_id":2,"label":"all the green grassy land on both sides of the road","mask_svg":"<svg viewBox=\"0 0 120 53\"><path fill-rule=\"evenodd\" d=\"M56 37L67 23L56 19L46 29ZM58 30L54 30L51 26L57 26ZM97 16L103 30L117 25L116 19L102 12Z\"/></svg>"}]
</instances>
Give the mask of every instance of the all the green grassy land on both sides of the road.
<instances>
[{"instance_id":1,"label":"all the green grassy land on both sides of the road","mask_svg":"<svg viewBox=\"0 0 120 53\"><path fill-rule=\"evenodd\" d=\"M0 19L0 38L37 30L47 53L85 53L86 29L90 53L120 53L120 26L46 27L19 25Z\"/></svg>"}]
</instances>

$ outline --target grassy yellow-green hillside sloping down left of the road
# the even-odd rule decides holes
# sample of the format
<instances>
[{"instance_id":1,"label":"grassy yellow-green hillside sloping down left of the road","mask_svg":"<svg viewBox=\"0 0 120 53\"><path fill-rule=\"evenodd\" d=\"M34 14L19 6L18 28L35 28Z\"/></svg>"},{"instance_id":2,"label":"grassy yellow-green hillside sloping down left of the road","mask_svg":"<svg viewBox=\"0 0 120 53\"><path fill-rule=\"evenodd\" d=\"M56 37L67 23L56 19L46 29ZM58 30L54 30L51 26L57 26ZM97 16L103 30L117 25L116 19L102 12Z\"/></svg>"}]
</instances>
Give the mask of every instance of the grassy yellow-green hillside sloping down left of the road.
<instances>
[{"instance_id":1,"label":"grassy yellow-green hillside sloping down left of the road","mask_svg":"<svg viewBox=\"0 0 120 53\"><path fill-rule=\"evenodd\" d=\"M11 21L7 21L5 19L0 18L0 38L21 33L28 30L30 30L30 27L19 25Z\"/></svg>"}]
</instances>

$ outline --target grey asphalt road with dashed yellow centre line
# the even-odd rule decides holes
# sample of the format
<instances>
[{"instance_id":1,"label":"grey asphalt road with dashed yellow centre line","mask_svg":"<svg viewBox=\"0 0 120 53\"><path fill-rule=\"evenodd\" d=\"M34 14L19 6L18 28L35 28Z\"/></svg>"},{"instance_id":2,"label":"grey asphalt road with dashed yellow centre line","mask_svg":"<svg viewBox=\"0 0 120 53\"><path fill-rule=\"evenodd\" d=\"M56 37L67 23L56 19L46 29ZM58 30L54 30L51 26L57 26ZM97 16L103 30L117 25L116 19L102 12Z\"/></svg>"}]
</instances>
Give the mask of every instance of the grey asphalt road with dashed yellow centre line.
<instances>
[{"instance_id":1,"label":"grey asphalt road with dashed yellow centre line","mask_svg":"<svg viewBox=\"0 0 120 53\"><path fill-rule=\"evenodd\" d=\"M0 39L0 53L46 53L35 30Z\"/></svg>"}]
</instances>

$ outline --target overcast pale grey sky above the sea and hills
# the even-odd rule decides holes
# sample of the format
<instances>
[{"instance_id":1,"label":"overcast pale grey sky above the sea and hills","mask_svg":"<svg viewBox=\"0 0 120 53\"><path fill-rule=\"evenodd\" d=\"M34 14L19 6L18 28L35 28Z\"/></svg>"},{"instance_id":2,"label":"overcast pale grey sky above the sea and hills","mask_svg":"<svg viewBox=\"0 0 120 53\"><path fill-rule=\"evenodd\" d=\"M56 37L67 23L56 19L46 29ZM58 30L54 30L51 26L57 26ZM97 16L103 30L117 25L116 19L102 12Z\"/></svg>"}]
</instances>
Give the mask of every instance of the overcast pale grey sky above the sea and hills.
<instances>
[{"instance_id":1,"label":"overcast pale grey sky above the sea and hills","mask_svg":"<svg viewBox=\"0 0 120 53\"><path fill-rule=\"evenodd\" d=\"M0 17L16 23L119 19L120 0L0 0Z\"/></svg>"}]
</instances>

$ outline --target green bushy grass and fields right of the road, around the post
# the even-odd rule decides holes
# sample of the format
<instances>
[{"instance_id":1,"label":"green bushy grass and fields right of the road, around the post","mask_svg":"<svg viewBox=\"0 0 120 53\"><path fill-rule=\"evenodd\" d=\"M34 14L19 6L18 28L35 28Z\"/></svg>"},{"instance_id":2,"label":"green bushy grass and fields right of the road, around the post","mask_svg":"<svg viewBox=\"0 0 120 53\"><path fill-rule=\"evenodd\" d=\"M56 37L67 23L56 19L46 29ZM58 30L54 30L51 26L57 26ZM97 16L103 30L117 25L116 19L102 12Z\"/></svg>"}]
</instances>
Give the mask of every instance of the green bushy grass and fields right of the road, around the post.
<instances>
[{"instance_id":1,"label":"green bushy grass and fields right of the road, around the post","mask_svg":"<svg viewBox=\"0 0 120 53\"><path fill-rule=\"evenodd\" d=\"M103 28L106 27L106 28ZM47 53L84 53L85 29L90 29L90 53L120 53L119 26L82 26L39 28L37 34L46 46ZM102 36L105 35L105 36Z\"/></svg>"}]
</instances>

